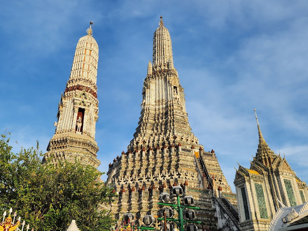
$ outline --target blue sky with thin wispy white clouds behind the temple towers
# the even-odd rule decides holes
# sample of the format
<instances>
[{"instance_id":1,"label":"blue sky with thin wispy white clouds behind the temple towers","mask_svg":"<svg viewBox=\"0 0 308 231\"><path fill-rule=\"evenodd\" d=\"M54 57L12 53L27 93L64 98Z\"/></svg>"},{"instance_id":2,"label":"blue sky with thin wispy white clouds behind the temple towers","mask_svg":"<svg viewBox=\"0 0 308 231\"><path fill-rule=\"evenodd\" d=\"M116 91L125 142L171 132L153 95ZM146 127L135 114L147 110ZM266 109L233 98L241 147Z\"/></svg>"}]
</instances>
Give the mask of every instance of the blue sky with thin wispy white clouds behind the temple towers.
<instances>
[{"instance_id":1,"label":"blue sky with thin wispy white clouds behind the temple towers","mask_svg":"<svg viewBox=\"0 0 308 231\"><path fill-rule=\"evenodd\" d=\"M308 1L25 0L0 8L0 132L9 130L15 152L36 140L45 152L76 44L94 21L97 154L106 172L137 127L162 14L189 123L233 190L233 165L249 168L257 149L254 108L270 148L308 180Z\"/></svg>"}]
</instances>

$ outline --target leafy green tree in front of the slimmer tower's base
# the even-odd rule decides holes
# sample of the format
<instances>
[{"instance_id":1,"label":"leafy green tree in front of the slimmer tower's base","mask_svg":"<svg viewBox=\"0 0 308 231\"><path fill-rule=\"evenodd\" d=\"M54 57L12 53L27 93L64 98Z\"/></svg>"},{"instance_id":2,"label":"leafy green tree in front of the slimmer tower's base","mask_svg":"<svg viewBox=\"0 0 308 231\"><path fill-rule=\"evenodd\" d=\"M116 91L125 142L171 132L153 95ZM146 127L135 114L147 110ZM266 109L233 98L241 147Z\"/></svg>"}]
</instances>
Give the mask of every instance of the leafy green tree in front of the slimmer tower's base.
<instances>
[{"instance_id":1,"label":"leafy green tree in front of the slimmer tower's base","mask_svg":"<svg viewBox=\"0 0 308 231\"><path fill-rule=\"evenodd\" d=\"M81 230L110 230L111 214L103 209L116 194L91 166L60 162L41 164L36 148L11 152L0 140L0 213L13 208L34 230L65 230L75 219Z\"/></svg>"}]
</instances>

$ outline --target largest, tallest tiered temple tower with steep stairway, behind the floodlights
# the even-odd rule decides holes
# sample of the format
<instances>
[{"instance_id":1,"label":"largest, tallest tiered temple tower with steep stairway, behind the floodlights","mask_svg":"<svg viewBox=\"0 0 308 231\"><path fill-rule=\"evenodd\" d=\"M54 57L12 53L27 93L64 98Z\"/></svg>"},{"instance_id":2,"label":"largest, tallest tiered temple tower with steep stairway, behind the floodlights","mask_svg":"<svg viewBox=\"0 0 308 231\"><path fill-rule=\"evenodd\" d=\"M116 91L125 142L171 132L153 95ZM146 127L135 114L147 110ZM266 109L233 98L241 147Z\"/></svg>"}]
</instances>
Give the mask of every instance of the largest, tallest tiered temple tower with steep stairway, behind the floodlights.
<instances>
[{"instance_id":1,"label":"largest, tallest tiered temple tower with steep stairway, behind the floodlights","mask_svg":"<svg viewBox=\"0 0 308 231\"><path fill-rule=\"evenodd\" d=\"M186 194L196 197L205 224L215 226L212 176L215 195L220 188L236 204L214 151L204 152L191 132L184 96L173 65L170 34L161 17L153 38L153 64L148 63L143 83L138 127L127 152L114 159L107 172L106 183L120 195L111 205L116 218L128 211L137 218L156 216L159 194L181 185Z\"/></svg>"}]
</instances>

